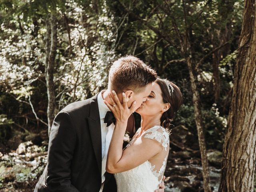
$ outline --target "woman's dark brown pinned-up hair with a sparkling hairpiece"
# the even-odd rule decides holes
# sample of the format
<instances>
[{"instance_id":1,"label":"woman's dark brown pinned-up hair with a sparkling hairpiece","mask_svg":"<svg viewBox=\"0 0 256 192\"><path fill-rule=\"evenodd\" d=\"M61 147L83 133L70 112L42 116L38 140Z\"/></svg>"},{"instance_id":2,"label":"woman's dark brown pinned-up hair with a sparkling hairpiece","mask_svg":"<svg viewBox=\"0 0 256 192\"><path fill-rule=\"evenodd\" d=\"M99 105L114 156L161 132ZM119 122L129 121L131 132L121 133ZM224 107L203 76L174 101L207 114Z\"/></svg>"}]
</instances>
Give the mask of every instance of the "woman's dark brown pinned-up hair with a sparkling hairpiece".
<instances>
[{"instance_id":1,"label":"woman's dark brown pinned-up hair with a sparkling hairpiece","mask_svg":"<svg viewBox=\"0 0 256 192\"><path fill-rule=\"evenodd\" d=\"M162 117L160 119L161 126L163 126L164 128L168 128L176 112L179 110L180 106L182 105L182 94L178 86L176 86L174 83L166 79L157 78L155 82L161 88L163 102L170 104L170 108L162 114ZM172 92L172 87L170 85L172 85L173 87L173 92Z\"/></svg>"}]
</instances>

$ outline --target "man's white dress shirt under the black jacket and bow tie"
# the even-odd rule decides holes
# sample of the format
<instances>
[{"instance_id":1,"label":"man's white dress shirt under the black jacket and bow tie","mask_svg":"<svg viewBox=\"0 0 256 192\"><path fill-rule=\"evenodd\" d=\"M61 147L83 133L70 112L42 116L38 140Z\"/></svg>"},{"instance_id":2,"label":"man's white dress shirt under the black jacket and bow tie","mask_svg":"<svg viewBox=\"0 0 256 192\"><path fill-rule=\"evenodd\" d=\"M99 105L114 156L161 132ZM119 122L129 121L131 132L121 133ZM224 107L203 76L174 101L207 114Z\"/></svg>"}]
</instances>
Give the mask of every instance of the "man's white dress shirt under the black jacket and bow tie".
<instances>
[{"instance_id":1,"label":"man's white dress shirt under the black jacket and bow tie","mask_svg":"<svg viewBox=\"0 0 256 192\"><path fill-rule=\"evenodd\" d=\"M108 156L108 148L109 148L109 144L112 138L112 134L114 131L114 127L115 125L112 123L110 126L107 127L107 124L104 123L104 118L106 116L106 113L108 111L110 111L108 109L108 106L106 106L106 104L104 104L103 102L103 98L102 98L102 94L105 92L106 90L102 90L98 96L97 96L97 101L98 101L98 106L99 106L99 112L100 112L100 126L101 126L101 149L102 149L102 169L101 169L101 188L100 188L100 192L102 192L103 190L103 186L104 186L104 181L105 181L105 172L106 172L106 161L107 161L107 156Z\"/></svg>"}]
</instances>

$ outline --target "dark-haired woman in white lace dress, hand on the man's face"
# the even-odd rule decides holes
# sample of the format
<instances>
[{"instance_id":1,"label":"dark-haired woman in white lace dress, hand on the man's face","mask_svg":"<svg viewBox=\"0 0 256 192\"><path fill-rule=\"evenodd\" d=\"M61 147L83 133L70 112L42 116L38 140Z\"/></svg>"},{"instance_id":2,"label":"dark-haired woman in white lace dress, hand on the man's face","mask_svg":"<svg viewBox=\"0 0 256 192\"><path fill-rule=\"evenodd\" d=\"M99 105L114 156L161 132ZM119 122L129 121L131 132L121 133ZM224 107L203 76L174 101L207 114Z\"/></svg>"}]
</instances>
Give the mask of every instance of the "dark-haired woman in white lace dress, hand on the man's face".
<instances>
[{"instance_id":1,"label":"dark-haired woman in white lace dress, hand on the man's face","mask_svg":"<svg viewBox=\"0 0 256 192\"><path fill-rule=\"evenodd\" d=\"M118 192L153 192L158 189L166 168L169 153L169 131L166 130L182 104L180 89L168 80L157 78L147 100L136 110L141 127L122 149L127 120L134 112L123 93L121 104L116 93L109 94L111 103L104 101L116 118L108 150L106 170L114 173Z\"/></svg>"}]
</instances>

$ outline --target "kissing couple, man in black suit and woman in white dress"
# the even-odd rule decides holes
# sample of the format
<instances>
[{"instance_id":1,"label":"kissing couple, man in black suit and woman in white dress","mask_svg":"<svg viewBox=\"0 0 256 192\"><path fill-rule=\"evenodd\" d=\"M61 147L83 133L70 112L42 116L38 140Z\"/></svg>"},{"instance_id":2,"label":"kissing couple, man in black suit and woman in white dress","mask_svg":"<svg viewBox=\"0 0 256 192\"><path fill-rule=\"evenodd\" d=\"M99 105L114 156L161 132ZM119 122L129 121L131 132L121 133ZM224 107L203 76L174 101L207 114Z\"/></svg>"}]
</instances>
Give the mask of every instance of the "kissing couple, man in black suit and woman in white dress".
<instances>
[{"instance_id":1,"label":"kissing couple, man in black suit and woman in white dress","mask_svg":"<svg viewBox=\"0 0 256 192\"><path fill-rule=\"evenodd\" d=\"M180 89L134 56L116 60L108 88L62 109L34 192L164 192L168 127ZM141 115L136 131L133 112ZM130 142L123 148L124 136Z\"/></svg>"}]
</instances>

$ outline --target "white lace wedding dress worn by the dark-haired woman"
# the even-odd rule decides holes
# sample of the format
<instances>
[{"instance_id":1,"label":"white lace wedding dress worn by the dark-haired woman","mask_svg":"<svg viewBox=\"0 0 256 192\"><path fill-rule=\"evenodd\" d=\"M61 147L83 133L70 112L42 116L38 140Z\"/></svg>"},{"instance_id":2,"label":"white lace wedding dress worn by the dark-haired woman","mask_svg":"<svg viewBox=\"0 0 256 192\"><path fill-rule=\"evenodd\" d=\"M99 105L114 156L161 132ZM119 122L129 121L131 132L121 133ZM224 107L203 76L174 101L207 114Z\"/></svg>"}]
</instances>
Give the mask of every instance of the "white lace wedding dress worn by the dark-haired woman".
<instances>
[{"instance_id":1,"label":"white lace wedding dress worn by the dark-haired woman","mask_svg":"<svg viewBox=\"0 0 256 192\"><path fill-rule=\"evenodd\" d=\"M140 128L126 146L129 147L138 138ZM169 133L161 126L146 130L140 137L156 140L162 144L162 151L151 162L147 160L136 168L114 174L118 192L153 192L162 182L169 153ZM125 148L124 148L125 150Z\"/></svg>"}]
</instances>

